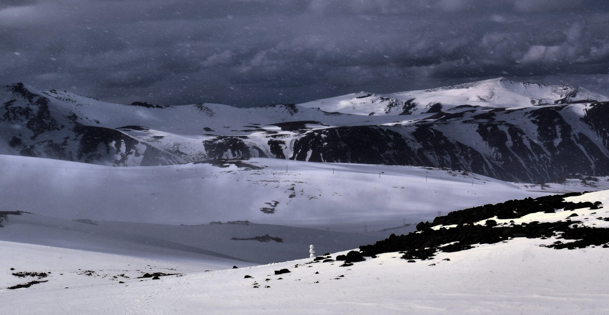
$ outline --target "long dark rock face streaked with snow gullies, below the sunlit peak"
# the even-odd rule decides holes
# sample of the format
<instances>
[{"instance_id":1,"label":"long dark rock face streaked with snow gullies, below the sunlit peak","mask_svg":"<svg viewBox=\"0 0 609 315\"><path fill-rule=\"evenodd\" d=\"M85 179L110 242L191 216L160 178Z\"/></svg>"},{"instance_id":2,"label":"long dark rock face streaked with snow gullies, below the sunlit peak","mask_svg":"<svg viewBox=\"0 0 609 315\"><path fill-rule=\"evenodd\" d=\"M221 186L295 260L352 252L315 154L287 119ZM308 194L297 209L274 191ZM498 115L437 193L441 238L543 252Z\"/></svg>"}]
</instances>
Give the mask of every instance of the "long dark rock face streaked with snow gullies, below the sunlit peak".
<instances>
[{"instance_id":1,"label":"long dark rock face streaked with snow gullies, below the sunlit peak","mask_svg":"<svg viewBox=\"0 0 609 315\"><path fill-rule=\"evenodd\" d=\"M440 112L408 125L311 131L295 140L290 159L447 167L526 182L607 174L607 114L609 102Z\"/></svg>"}]
</instances>

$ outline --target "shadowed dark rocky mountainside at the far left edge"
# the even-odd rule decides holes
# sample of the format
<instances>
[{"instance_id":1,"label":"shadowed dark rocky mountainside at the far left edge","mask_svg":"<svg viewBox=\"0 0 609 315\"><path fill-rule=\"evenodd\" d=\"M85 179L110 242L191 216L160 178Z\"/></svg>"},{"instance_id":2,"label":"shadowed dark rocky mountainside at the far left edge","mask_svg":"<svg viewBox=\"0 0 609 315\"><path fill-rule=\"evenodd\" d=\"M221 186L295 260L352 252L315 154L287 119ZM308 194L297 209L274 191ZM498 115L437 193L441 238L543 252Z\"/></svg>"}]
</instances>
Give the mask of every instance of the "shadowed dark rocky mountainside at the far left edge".
<instances>
[{"instance_id":1,"label":"shadowed dark rocky mountainside at the far left edge","mask_svg":"<svg viewBox=\"0 0 609 315\"><path fill-rule=\"evenodd\" d=\"M87 125L88 118L83 119L76 110L58 108L48 97L30 92L22 83L4 86L0 92L8 99L0 99L0 130L14 150L3 150L2 154L125 166L183 162L119 130Z\"/></svg>"}]
</instances>

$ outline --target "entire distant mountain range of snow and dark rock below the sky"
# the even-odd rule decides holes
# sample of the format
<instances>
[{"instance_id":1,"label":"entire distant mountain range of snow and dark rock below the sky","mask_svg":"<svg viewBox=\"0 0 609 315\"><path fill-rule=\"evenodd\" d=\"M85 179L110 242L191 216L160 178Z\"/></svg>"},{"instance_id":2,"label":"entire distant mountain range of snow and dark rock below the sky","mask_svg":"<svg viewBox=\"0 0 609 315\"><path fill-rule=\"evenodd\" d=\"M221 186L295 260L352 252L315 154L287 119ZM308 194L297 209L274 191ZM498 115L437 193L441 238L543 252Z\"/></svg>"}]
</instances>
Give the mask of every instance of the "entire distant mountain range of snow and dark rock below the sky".
<instances>
[{"instance_id":1,"label":"entire distant mountain range of snow and dark rock below the sky","mask_svg":"<svg viewBox=\"0 0 609 315\"><path fill-rule=\"evenodd\" d=\"M0 88L0 154L101 165L234 157L447 167L507 181L609 175L609 98L497 78L257 108L118 105Z\"/></svg>"}]
</instances>

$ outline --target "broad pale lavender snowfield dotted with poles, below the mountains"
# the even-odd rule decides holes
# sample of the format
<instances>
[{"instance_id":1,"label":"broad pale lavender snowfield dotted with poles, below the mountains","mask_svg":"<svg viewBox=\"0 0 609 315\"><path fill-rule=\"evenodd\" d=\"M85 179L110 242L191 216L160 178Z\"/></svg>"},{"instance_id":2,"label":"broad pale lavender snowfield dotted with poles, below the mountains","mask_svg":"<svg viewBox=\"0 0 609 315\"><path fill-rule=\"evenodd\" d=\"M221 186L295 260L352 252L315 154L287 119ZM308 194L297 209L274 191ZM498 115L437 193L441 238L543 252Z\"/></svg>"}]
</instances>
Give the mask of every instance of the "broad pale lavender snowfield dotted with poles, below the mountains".
<instances>
[{"instance_id":1,"label":"broad pale lavender snowfield dotted with poles, below the mountains","mask_svg":"<svg viewBox=\"0 0 609 315\"><path fill-rule=\"evenodd\" d=\"M0 190L1 210L68 220L248 220L355 233L364 232L364 225L371 232L404 220L431 220L438 212L594 188L572 182L541 189L472 173L386 165L249 159L127 168L0 155Z\"/></svg>"}]
</instances>

